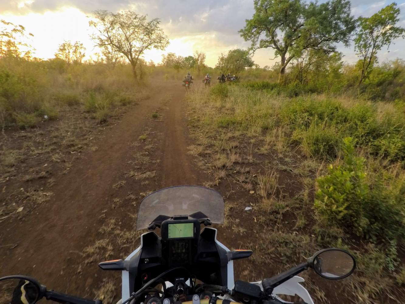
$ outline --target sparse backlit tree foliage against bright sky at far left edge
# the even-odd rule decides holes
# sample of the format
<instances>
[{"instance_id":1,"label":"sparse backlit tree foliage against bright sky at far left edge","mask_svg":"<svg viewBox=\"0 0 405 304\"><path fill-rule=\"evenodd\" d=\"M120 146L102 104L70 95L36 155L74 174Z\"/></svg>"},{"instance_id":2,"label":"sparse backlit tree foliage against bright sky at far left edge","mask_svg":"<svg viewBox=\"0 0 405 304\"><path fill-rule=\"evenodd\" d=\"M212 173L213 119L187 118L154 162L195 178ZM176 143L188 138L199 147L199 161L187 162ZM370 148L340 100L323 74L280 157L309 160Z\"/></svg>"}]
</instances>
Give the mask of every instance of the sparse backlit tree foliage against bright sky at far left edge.
<instances>
[{"instance_id":1,"label":"sparse backlit tree foliage against bright sky at far left edge","mask_svg":"<svg viewBox=\"0 0 405 304\"><path fill-rule=\"evenodd\" d=\"M22 25L0 20L0 57L31 58L32 47L25 31ZM28 36L34 35L28 33Z\"/></svg>"}]
</instances>

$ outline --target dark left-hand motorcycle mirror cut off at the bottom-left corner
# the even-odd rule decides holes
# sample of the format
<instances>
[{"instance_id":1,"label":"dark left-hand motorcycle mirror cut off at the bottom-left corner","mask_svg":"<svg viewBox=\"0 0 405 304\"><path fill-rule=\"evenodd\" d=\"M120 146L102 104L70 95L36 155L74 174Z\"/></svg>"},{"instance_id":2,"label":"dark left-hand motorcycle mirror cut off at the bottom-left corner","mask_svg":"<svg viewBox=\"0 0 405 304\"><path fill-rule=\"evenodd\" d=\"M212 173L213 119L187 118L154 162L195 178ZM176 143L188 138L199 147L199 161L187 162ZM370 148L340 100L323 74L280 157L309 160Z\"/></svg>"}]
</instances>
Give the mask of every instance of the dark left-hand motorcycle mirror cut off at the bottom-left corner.
<instances>
[{"instance_id":1,"label":"dark left-hand motorcycle mirror cut off at the bottom-left corner","mask_svg":"<svg viewBox=\"0 0 405 304\"><path fill-rule=\"evenodd\" d=\"M39 295L38 283L26 277L0 278L0 304L35 304Z\"/></svg>"}]
</instances>

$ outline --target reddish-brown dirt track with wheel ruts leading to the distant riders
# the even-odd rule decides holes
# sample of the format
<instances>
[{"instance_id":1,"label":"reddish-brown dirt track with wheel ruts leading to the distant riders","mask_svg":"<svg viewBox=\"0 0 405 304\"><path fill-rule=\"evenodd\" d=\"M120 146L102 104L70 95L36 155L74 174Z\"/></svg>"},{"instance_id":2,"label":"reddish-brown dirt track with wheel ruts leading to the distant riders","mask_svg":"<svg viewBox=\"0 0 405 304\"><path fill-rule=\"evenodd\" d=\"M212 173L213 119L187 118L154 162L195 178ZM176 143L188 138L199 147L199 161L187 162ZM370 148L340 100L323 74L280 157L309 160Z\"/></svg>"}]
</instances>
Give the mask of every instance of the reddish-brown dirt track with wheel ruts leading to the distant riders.
<instances>
[{"instance_id":1,"label":"reddish-brown dirt track with wheel ruts leading to the distant riders","mask_svg":"<svg viewBox=\"0 0 405 304\"><path fill-rule=\"evenodd\" d=\"M53 289L92 296L106 275L96 262L83 263L83 250L100 239L100 227L116 218L120 227L134 229L139 201L146 193L204 182L204 173L187 154L185 90L178 82L161 86L106 131L95 143L96 151L85 152L67 174L57 175L47 203L22 222L0 223L1 244L18 244L0 246L0 276L28 274ZM129 248L110 251L124 257Z\"/></svg>"}]
</instances>

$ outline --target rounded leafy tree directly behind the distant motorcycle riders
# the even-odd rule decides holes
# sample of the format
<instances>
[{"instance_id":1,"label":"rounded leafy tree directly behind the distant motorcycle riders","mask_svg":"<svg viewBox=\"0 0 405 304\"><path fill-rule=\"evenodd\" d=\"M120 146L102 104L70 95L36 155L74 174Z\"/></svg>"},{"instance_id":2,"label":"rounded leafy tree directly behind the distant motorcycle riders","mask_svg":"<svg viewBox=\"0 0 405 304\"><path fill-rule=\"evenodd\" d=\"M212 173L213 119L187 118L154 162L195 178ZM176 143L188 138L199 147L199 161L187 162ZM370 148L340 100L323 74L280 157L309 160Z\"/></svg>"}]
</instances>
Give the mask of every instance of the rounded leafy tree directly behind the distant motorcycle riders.
<instances>
[{"instance_id":1,"label":"rounded leafy tree directly behind the distant motorcycle riders","mask_svg":"<svg viewBox=\"0 0 405 304\"><path fill-rule=\"evenodd\" d=\"M220 69L223 73L236 75L245 70L245 68L250 68L253 65L254 62L249 56L249 51L232 49L228 51L227 55L221 54L215 68Z\"/></svg>"}]
</instances>

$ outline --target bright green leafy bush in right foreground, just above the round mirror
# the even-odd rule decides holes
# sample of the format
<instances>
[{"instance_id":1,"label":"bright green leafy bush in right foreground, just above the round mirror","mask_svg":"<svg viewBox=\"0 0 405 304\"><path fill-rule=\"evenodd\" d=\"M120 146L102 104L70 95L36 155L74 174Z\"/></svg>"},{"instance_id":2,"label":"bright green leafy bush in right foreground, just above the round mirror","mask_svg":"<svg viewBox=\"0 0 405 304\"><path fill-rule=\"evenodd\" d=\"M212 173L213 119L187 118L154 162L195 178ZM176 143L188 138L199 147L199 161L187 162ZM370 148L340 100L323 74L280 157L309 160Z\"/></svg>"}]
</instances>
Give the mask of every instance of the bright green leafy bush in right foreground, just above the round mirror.
<instances>
[{"instance_id":1,"label":"bright green leafy bush in right foreground, just above the round mirror","mask_svg":"<svg viewBox=\"0 0 405 304\"><path fill-rule=\"evenodd\" d=\"M405 236L405 178L388 171L368 176L351 137L344 139L343 150L343 164L330 165L328 174L316 180L318 214L373 240Z\"/></svg>"}]
</instances>

